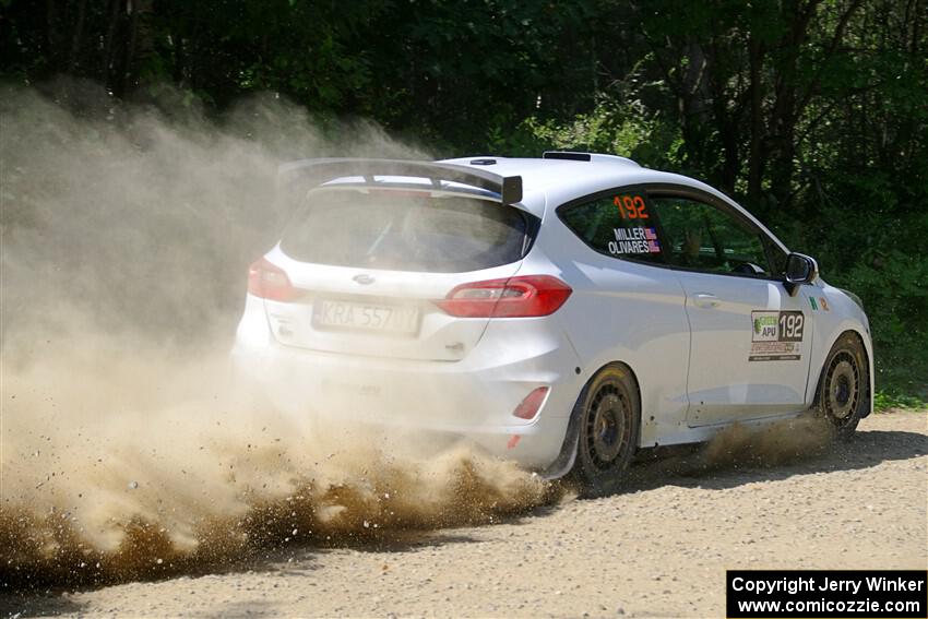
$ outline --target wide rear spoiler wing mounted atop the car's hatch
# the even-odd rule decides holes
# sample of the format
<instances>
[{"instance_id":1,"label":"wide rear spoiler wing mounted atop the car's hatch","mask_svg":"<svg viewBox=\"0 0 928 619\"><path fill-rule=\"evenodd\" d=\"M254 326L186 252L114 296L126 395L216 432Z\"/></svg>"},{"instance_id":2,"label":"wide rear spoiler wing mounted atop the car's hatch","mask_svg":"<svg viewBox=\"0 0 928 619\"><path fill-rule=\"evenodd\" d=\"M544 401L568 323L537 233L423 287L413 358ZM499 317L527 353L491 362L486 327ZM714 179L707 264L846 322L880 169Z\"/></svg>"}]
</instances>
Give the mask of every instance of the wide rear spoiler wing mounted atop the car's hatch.
<instances>
[{"instance_id":1,"label":"wide rear spoiler wing mounted atop the car's hatch","mask_svg":"<svg viewBox=\"0 0 928 619\"><path fill-rule=\"evenodd\" d=\"M522 201L522 177L502 177L497 174L455 164L436 164L403 159L299 159L277 168L277 179L284 183L301 182L318 187L336 178L359 176L365 184L374 184L377 176L407 176L427 178L436 189L441 182L459 182L486 189L500 197L503 204Z\"/></svg>"}]
</instances>

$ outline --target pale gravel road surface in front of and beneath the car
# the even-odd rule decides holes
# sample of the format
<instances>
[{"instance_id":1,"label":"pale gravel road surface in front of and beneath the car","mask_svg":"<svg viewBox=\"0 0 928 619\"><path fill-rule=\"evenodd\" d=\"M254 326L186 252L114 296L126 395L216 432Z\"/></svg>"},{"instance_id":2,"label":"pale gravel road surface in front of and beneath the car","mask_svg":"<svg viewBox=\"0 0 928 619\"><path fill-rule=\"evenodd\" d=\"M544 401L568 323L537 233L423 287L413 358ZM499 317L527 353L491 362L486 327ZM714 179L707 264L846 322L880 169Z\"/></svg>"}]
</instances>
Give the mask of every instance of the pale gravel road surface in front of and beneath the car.
<instances>
[{"instance_id":1,"label":"pale gravel road surface in front of and beneath the car","mask_svg":"<svg viewBox=\"0 0 928 619\"><path fill-rule=\"evenodd\" d=\"M2 615L722 617L726 569L926 569L928 416L873 415L824 455L639 463L627 489L377 547L0 598Z\"/></svg>"}]
</instances>

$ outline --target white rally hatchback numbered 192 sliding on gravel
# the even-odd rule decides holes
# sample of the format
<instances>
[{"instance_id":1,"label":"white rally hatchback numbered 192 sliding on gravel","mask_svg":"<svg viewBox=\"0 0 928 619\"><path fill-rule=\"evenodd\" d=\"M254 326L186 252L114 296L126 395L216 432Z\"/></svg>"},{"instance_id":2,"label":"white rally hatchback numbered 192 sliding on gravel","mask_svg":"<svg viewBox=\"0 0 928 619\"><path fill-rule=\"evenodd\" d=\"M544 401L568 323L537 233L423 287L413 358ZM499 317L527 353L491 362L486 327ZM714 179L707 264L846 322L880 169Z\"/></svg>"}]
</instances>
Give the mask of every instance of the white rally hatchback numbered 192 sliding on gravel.
<instances>
[{"instance_id":1,"label":"white rally hatchback numbered 192 sliding on gravel","mask_svg":"<svg viewBox=\"0 0 928 619\"><path fill-rule=\"evenodd\" d=\"M639 448L810 408L847 436L872 408L859 300L700 181L560 152L281 177L295 214L234 359L307 414L337 394L607 489Z\"/></svg>"}]
</instances>

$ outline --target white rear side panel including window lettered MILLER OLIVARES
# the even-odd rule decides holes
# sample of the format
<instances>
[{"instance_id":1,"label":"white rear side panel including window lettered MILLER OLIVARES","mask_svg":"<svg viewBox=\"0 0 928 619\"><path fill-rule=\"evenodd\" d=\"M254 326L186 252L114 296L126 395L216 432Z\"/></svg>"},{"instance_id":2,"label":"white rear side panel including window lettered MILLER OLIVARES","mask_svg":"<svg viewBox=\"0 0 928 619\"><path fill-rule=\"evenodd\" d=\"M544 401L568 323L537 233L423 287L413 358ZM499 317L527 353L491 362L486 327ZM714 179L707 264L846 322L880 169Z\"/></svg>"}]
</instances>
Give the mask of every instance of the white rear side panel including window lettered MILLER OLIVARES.
<instances>
[{"instance_id":1,"label":"white rear side panel including window lettered MILLER OLIVARES","mask_svg":"<svg viewBox=\"0 0 928 619\"><path fill-rule=\"evenodd\" d=\"M666 265L644 192L620 187L557 212L567 229L549 227L559 236L542 240L573 288L558 317L590 368L615 360L632 368L644 412L641 442L654 444L686 417L690 334L683 289Z\"/></svg>"}]
</instances>

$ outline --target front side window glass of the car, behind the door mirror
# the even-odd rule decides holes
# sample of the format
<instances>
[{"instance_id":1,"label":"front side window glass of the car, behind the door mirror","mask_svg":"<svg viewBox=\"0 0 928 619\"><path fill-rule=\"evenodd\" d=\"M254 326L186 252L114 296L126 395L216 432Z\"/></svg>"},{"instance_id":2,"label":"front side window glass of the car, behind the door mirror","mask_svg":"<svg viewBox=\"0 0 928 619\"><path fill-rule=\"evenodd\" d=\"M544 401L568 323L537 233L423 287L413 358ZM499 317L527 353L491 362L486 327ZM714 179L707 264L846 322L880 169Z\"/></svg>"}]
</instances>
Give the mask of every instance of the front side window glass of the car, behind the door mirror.
<instances>
[{"instance_id":1,"label":"front side window glass of the car, behind the door mirror","mask_svg":"<svg viewBox=\"0 0 928 619\"><path fill-rule=\"evenodd\" d=\"M711 273L771 276L763 238L748 224L689 198L652 195L651 207L661 218L670 264Z\"/></svg>"}]
</instances>

